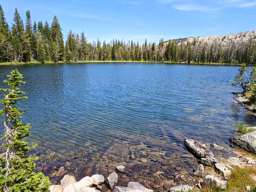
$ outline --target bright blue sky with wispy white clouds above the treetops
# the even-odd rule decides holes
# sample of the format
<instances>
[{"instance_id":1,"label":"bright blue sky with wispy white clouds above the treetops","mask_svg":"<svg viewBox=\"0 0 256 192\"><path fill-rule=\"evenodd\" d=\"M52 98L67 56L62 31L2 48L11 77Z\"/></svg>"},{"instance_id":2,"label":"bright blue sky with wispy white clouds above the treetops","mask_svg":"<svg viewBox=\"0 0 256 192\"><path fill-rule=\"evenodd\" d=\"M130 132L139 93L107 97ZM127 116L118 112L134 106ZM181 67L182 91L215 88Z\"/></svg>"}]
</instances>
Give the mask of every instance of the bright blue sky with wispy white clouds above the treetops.
<instances>
[{"instance_id":1,"label":"bright blue sky with wispy white clouds above the treetops","mask_svg":"<svg viewBox=\"0 0 256 192\"><path fill-rule=\"evenodd\" d=\"M113 38L139 43L190 36L226 35L256 30L256 0L1 0L10 25L17 7L25 21L60 20L64 37L69 30L85 32L88 41Z\"/></svg>"}]
</instances>

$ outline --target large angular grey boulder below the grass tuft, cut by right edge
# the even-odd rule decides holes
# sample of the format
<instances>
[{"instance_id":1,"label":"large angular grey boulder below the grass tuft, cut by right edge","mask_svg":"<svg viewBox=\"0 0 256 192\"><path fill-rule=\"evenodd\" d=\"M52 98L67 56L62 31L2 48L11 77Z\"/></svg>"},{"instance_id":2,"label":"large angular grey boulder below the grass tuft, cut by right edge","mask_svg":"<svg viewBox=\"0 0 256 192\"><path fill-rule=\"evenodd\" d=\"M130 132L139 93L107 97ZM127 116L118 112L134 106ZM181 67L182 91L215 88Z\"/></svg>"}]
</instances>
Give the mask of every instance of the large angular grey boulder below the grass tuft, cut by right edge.
<instances>
[{"instance_id":1,"label":"large angular grey boulder below the grass tuft, cut by right edge","mask_svg":"<svg viewBox=\"0 0 256 192\"><path fill-rule=\"evenodd\" d=\"M256 154L256 131L233 137L230 139L230 142L250 153Z\"/></svg>"}]
</instances>

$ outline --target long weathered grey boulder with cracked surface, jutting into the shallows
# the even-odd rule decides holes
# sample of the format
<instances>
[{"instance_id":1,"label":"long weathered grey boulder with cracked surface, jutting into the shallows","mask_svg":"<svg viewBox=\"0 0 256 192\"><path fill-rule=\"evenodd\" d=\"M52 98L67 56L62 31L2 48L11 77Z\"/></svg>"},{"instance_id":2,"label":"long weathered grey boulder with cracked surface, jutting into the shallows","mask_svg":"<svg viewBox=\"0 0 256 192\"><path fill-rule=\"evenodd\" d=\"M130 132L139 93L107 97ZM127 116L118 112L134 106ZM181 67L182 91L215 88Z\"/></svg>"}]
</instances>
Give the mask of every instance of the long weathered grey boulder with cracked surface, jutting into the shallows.
<instances>
[{"instance_id":1,"label":"long weathered grey boulder with cracked surface, jutting into the shallows","mask_svg":"<svg viewBox=\"0 0 256 192\"><path fill-rule=\"evenodd\" d=\"M196 140L187 139L185 141L185 146L190 150L195 156L199 158L204 158L206 162L211 162L213 166L218 163L218 160L214 157L212 151L208 149L205 144L202 144ZM201 162L202 163L202 162ZM207 164L206 164L207 165Z\"/></svg>"}]
</instances>

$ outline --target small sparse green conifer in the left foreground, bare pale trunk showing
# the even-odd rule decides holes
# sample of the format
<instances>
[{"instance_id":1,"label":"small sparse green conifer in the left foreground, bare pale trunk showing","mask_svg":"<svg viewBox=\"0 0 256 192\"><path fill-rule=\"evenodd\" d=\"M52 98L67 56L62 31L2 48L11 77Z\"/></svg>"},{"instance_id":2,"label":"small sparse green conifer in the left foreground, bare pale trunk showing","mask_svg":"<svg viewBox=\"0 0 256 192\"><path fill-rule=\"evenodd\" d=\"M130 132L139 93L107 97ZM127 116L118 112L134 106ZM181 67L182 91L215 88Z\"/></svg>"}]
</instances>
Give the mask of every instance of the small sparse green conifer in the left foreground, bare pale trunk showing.
<instances>
[{"instance_id":1,"label":"small sparse green conifer in the left foreground, bare pale trunk showing","mask_svg":"<svg viewBox=\"0 0 256 192\"><path fill-rule=\"evenodd\" d=\"M0 114L4 115L4 140L1 148L4 153L0 156L0 189L3 192L34 191L48 192L50 181L42 172L34 172L36 167L33 156L27 153L31 148L24 138L30 135L29 124L23 124L21 115L23 110L18 108L18 101L27 99L24 92L20 91L22 75L17 69L12 70L8 75L9 80L4 83L10 86L7 89L0 89L5 92L4 99L0 103L4 106Z\"/></svg>"}]
</instances>

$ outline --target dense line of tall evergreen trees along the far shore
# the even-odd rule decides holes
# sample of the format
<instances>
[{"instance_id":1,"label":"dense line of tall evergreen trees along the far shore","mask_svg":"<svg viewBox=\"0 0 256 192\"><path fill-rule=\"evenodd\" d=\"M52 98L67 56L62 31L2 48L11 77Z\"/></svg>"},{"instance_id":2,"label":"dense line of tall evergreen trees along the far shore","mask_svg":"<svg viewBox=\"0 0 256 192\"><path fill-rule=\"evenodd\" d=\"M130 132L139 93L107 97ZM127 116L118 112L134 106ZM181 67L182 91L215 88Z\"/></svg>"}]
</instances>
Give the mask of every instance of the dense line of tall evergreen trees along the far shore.
<instances>
[{"instance_id":1,"label":"dense line of tall evergreen trees along the far shore","mask_svg":"<svg viewBox=\"0 0 256 192\"><path fill-rule=\"evenodd\" d=\"M25 27L15 9L13 24L9 26L0 5L0 61L171 61L202 63L256 64L255 39L223 44L221 41L193 42L169 40L139 44L113 39L111 42L87 42L84 32L67 34L64 44L59 20L52 24L39 21L32 25L30 12L26 12Z\"/></svg>"}]
</instances>

